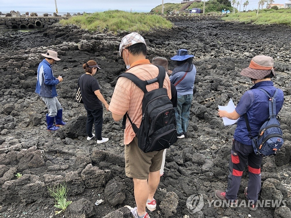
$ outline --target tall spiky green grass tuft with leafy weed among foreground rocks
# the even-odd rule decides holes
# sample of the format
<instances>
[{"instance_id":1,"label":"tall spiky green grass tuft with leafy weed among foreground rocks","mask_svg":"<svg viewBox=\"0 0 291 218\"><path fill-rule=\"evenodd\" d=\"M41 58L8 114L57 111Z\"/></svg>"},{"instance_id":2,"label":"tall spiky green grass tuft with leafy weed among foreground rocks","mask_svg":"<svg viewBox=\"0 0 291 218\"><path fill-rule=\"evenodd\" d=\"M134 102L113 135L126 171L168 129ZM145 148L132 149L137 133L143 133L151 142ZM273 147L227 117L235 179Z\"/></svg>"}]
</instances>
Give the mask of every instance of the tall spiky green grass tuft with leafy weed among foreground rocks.
<instances>
[{"instance_id":1,"label":"tall spiky green grass tuft with leafy weed among foreground rocks","mask_svg":"<svg viewBox=\"0 0 291 218\"><path fill-rule=\"evenodd\" d=\"M65 181L64 183L57 185L57 187L54 186L53 189L50 187L47 187L47 189L49 190L50 196L55 199L54 207L61 209L56 211L55 215L63 212L72 203L72 201L67 201L68 187Z\"/></svg>"}]
</instances>

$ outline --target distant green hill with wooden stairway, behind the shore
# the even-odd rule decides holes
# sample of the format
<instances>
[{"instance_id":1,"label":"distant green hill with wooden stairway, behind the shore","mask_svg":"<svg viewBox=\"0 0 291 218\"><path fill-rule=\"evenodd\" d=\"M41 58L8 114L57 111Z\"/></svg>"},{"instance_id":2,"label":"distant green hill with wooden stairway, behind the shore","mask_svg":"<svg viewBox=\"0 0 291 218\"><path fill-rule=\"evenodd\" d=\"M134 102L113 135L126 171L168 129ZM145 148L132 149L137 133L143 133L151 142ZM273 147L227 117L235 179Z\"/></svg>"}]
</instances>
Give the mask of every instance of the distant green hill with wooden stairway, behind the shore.
<instances>
[{"instance_id":1,"label":"distant green hill with wooden stairway, behind the shore","mask_svg":"<svg viewBox=\"0 0 291 218\"><path fill-rule=\"evenodd\" d=\"M168 13L173 10L180 11L181 8L184 6L184 4L181 3L165 3L165 13ZM189 9L192 8L200 8L203 9L203 1L201 2L194 2L189 7ZM233 10L233 7L231 6L231 3L229 0L210 0L205 2L205 13L209 12L221 12L222 10ZM159 5L155 8L153 8L150 12L161 12L162 5Z\"/></svg>"}]
</instances>

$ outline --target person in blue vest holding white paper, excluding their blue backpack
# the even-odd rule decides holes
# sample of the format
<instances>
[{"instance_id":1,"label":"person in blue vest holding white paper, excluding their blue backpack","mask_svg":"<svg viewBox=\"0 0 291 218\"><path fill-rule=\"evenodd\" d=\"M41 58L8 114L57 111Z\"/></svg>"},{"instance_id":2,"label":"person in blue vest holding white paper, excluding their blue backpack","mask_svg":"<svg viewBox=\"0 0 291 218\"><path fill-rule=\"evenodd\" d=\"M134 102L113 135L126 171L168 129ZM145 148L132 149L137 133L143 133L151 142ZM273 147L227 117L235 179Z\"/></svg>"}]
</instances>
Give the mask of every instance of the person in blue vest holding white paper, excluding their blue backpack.
<instances>
[{"instance_id":1,"label":"person in blue vest holding white paper, excluding their blue backpack","mask_svg":"<svg viewBox=\"0 0 291 218\"><path fill-rule=\"evenodd\" d=\"M257 88L264 89L271 96L274 95L276 87L274 87L271 81L271 78L275 76L274 60L269 56L255 56L251 60L249 67L243 69L240 74L250 77L253 87L242 95L233 112L228 113L225 110L218 110L219 117L227 117L234 120L239 119L230 154L227 188L225 192L216 190L214 194L220 201L228 203L230 207L237 207L237 192L243 170L246 163L248 163L249 182L244 190L244 194L249 202L249 209L254 211L258 208L257 200L261 190L260 165L262 156L256 155L254 152L244 115L247 115L252 137L257 136L260 127L269 118L269 97ZM275 99L276 114L278 114L284 101L284 94L281 89L278 89Z\"/></svg>"}]
</instances>

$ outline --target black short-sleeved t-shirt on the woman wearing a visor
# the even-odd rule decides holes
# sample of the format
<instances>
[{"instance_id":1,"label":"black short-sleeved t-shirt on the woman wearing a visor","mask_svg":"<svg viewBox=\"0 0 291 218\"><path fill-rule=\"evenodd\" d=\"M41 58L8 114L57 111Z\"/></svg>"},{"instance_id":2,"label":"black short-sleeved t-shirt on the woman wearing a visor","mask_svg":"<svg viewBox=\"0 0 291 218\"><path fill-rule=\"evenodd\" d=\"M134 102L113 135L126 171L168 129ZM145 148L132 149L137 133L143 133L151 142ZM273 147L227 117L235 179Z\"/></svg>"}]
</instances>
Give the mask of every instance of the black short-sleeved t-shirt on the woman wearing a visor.
<instances>
[{"instance_id":1,"label":"black short-sleeved t-shirt on the woman wearing a visor","mask_svg":"<svg viewBox=\"0 0 291 218\"><path fill-rule=\"evenodd\" d=\"M79 86L85 109L95 110L102 108L102 102L94 93L94 91L100 89L97 79L89 74L83 74L80 77Z\"/></svg>"}]
</instances>

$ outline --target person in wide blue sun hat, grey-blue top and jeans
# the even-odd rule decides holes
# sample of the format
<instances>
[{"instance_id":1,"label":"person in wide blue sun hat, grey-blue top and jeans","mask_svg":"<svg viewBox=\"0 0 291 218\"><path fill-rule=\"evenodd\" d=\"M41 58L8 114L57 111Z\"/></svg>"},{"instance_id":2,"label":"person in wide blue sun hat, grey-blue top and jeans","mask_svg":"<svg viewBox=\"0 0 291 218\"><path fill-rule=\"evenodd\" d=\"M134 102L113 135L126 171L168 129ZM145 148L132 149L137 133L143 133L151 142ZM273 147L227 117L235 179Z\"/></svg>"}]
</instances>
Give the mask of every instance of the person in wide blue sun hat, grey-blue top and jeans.
<instances>
[{"instance_id":1,"label":"person in wide blue sun hat, grey-blue top and jeans","mask_svg":"<svg viewBox=\"0 0 291 218\"><path fill-rule=\"evenodd\" d=\"M189 55L185 49L177 51L172 57L175 60L175 67L170 76L170 81L177 89L178 102L175 108L177 122L177 137L184 138L189 125L189 115L193 98L193 88L196 76L196 67L192 64L194 55Z\"/></svg>"}]
</instances>

